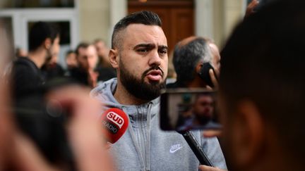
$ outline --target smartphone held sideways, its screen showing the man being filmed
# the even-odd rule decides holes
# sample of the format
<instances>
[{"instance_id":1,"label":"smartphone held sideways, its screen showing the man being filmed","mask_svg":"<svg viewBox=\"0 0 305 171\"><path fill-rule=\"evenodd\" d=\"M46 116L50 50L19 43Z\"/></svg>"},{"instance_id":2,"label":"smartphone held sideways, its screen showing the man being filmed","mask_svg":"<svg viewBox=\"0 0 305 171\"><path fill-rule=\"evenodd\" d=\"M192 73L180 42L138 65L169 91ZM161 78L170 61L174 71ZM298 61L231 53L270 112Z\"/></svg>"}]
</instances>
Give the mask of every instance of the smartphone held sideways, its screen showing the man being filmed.
<instances>
[{"instance_id":1,"label":"smartphone held sideways, its screen showing the man being filmed","mask_svg":"<svg viewBox=\"0 0 305 171\"><path fill-rule=\"evenodd\" d=\"M208 89L165 89L160 99L160 127L178 132L221 129L217 92Z\"/></svg>"}]
</instances>

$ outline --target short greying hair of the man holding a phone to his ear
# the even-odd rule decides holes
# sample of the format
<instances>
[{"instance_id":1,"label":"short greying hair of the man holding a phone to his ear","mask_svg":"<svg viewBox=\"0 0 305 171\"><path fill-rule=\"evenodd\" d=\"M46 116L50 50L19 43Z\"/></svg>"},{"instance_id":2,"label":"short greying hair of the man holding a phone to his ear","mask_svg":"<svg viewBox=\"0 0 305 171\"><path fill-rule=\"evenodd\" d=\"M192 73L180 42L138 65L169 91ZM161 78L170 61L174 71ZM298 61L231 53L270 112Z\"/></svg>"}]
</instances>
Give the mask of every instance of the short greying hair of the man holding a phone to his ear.
<instances>
[{"instance_id":1,"label":"short greying hair of the man holding a phone to his ear","mask_svg":"<svg viewBox=\"0 0 305 171\"><path fill-rule=\"evenodd\" d=\"M208 42L202 37L196 37L183 46L180 42L175 46L173 64L177 73L177 82L181 86L191 82L196 75L196 65L199 61L210 62Z\"/></svg>"}]
</instances>

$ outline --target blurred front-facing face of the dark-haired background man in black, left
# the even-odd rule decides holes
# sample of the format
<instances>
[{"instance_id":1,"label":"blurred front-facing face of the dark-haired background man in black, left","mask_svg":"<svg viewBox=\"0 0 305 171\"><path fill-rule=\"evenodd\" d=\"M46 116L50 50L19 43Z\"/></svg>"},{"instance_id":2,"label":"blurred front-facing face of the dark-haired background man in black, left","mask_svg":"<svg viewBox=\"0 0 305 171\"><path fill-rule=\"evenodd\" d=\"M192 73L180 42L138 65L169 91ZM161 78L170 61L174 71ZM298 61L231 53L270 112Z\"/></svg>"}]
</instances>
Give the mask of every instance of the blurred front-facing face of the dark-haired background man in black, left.
<instances>
[{"instance_id":1,"label":"blurred front-facing face of the dark-haired background man in black, left","mask_svg":"<svg viewBox=\"0 0 305 171\"><path fill-rule=\"evenodd\" d=\"M87 48L78 49L77 61L83 70L94 70L97 60L97 51L94 46L90 45Z\"/></svg>"}]
</instances>

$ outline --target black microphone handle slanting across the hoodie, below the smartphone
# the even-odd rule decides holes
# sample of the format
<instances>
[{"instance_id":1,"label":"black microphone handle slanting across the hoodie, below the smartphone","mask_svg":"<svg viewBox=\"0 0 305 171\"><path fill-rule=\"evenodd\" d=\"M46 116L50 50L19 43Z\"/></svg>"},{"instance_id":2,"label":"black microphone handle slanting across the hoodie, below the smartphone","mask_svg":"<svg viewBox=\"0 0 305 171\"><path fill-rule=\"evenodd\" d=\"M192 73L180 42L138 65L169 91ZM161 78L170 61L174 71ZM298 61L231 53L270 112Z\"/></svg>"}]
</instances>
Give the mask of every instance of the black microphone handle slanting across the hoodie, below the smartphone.
<instances>
[{"instance_id":1,"label":"black microphone handle slanting across the hoodie, below the smartphone","mask_svg":"<svg viewBox=\"0 0 305 171\"><path fill-rule=\"evenodd\" d=\"M184 137L186 142L189 144L189 146L191 147L191 150L193 151L195 156L198 158L201 165L208 165L208 166L214 167L214 165L211 163L208 156L205 154L205 152L201 148L201 145L198 144L198 141L195 139L195 137L193 137L193 134L190 131L179 132L179 133L182 134L182 136Z\"/></svg>"}]
</instances>

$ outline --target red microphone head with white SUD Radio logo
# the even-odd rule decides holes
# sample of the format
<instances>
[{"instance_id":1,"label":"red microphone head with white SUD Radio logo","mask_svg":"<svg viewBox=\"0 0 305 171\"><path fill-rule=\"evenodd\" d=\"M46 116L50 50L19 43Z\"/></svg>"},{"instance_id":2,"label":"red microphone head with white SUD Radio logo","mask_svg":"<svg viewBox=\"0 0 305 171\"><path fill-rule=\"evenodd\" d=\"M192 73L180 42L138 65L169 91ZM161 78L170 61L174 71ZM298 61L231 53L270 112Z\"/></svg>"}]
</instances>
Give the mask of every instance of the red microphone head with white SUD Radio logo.
<instances>
[{"instance_id":1,"label":"red microphone head with white SUD Radio logo","mask_svg":"<svg viewBox=\"0 0 305 171\"><path fill-rule=\"evenodd\" d=\"M102 114L102 124L104 134L109 143L114 144L126 132L128 127L128 117L119 108L109 108Z\"/></svg>"}]
</instances>

